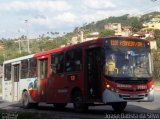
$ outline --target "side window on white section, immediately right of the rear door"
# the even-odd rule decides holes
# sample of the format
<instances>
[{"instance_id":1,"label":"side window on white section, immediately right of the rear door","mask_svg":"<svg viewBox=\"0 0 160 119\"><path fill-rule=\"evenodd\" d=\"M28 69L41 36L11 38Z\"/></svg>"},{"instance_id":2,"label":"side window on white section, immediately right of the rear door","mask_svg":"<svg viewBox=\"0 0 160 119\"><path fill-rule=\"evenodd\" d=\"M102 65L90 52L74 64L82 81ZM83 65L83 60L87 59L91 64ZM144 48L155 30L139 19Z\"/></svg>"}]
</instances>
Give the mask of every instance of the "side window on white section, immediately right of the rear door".
<instances>
[{"instance_id":1,"label":"side window on white section, immediately right of the rear door","mask_svg":"<svg viewBox=\"0 0 160 119\"><path fill-rule=\"evenodd\" d=\"M21 61L21 79L28 78L28 59Z\"/></svg>"}]
</instances>

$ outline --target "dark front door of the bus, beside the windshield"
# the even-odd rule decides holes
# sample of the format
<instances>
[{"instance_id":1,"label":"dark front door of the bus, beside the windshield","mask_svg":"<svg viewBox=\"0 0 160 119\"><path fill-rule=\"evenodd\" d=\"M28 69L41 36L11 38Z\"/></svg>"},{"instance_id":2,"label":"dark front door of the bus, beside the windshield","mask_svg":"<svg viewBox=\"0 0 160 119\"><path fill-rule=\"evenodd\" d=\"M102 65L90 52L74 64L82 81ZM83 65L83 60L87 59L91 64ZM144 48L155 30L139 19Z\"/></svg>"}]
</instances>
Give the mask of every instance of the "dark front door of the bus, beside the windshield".
<instances>
[{"instance_id":1,"label":"dark front door of the bus, beside the windshield","mask_svg":"<svg viewBox=\"0 0 160 119\"><path fill-rule=\"evenodd\" d=\"M100 99L101 96L101 48L85 51L85 84L88 99Z\"/></svg>"}]
</instances>

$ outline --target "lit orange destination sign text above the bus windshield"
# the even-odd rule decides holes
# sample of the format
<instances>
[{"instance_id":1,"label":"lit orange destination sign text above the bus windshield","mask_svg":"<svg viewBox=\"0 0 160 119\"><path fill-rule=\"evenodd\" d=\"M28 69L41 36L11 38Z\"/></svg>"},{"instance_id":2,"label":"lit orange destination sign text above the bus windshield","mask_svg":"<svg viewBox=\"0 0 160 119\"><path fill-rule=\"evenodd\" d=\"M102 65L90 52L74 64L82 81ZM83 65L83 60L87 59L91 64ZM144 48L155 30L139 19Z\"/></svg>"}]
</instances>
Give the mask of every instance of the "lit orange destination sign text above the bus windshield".
<instances>
[{"instance_id":1,"label":"lit orange destination sign text above the bus windshield","mask_svg":"<svg viewBox=\"0 0 160 119\"><path fill-rule=\"evenodd\" d=\"M111 46L122 46L122 47L143 47L142 41L131 41L131 40L111 40Z\"/></svg>"}]
</instances>

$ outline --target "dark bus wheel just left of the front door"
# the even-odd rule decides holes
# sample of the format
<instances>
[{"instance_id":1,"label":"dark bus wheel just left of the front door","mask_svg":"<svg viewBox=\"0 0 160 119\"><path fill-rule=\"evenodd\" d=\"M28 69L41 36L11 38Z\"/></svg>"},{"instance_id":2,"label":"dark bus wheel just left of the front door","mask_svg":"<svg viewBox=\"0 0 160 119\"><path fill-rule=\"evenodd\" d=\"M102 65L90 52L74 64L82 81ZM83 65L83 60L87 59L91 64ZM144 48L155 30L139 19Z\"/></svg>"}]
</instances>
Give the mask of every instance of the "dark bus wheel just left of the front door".
<instances>
[{"instance_id":1,"label":"dark bus wheel just left of the front door","mask_svg":"<svg viewBox=\"0 0 160 119\"><path fill-rule=\"evenodd\" d=\"M77 91L73 94L72 100L73 100L74 110L76 112L83 112L88 110L88 105L85 105L85 103L83 103L83 98L80 91Z\"/></svg>"}]
</instances>

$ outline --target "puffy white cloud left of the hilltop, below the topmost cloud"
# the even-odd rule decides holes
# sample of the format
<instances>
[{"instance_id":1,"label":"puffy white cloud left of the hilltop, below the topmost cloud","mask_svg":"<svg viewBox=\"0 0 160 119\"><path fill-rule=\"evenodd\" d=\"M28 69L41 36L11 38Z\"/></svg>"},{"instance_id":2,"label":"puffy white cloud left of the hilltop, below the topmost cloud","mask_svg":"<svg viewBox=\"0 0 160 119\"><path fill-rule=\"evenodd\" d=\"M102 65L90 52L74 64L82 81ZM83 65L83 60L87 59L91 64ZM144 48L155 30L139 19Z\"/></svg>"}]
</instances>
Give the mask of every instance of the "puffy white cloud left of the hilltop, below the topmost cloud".
<instances>
[{"instance_id":1,"label":"puffy white cloud left of the hilltop, below the topmost cloud","mask_svg":"<svg viewBox=\"0 0 160 119\"><path fill-rule=\"evenodd\" d=\"M77 16L72 12L64 12L54 16L36 16L29 19L28 23L31 27L47 27L48 29L65 29L66 27L74 26L76 24Z\"/></svg>"}]
</instances>

